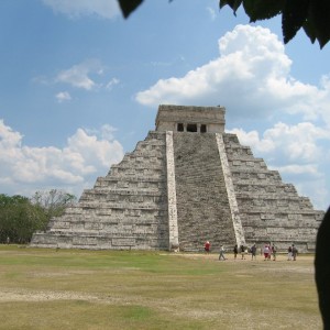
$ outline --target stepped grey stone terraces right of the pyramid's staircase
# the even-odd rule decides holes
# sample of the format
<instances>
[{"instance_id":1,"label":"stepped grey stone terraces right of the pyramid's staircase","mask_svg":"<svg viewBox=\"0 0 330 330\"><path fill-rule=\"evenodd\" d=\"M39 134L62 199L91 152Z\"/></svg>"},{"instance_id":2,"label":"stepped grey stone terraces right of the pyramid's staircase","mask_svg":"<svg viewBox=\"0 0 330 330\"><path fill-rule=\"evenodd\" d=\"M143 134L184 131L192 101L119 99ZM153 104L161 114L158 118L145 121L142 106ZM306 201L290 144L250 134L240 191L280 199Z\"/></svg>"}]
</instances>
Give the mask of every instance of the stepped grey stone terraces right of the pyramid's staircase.
<instances>
[{"instance_id":1,"label":"stepped grey stone terraces right of the pyramid's staircase","mask_svg":"<svg viewBox=\"0 0 330 330\"><path fill-rule=\"evenodd\" d=\"M235 134L223 134L223 140L246 243L274 242L284 251L294 243L301 252L314 251L324 212L314 210L307 197L283 183Z\"/></svg>"}]
</instances>

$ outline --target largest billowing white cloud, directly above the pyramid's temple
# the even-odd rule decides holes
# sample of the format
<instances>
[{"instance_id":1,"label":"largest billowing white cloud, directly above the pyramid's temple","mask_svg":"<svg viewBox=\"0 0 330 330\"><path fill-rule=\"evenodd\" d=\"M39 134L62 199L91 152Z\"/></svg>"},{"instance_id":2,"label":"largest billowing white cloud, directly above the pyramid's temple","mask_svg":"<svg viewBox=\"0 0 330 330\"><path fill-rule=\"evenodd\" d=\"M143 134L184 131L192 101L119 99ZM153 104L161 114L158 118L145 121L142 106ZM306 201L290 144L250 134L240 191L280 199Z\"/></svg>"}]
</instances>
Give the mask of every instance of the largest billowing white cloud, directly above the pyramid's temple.
<instances>
[{"instance_id":1,"label":"largest billowing white cloud, directly above the pyramid's temple","mask_svg":"<svg viewBox=\"0 0 330 330\"><path fill-rule=\"evenodd\" d=\"M302 84L290 76L290 66L283 43L268 29L238 25L219 40L218 58L184 77L160 79L135 98L152 107L212 106L226 100L229 117L283 112L302 114L305 120L322 118L330 125L329 77L319 87Z\"/></svg>"}]
</instances>

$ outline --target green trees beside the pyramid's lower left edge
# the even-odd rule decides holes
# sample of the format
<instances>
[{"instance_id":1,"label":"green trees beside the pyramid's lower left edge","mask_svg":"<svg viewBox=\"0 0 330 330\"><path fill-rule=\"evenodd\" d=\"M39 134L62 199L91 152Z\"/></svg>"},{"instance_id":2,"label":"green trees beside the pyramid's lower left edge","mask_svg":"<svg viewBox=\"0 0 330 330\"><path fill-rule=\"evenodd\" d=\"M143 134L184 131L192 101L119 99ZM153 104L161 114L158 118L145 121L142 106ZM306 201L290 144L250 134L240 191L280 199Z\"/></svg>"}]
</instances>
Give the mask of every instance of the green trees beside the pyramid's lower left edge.
<instances>
[{"instance_id":1,"label":"green trees beside the pyramid's lower left edge","mask_svg":"<svg viewBox=\"0 0 330 330\"><path fill-rule=\"evenodd\" d=\"M31 198L0 194L0 242L26 244L53 217L64 213L76 197L63 190L36 191Z\"/></svg>"}]
</instances>

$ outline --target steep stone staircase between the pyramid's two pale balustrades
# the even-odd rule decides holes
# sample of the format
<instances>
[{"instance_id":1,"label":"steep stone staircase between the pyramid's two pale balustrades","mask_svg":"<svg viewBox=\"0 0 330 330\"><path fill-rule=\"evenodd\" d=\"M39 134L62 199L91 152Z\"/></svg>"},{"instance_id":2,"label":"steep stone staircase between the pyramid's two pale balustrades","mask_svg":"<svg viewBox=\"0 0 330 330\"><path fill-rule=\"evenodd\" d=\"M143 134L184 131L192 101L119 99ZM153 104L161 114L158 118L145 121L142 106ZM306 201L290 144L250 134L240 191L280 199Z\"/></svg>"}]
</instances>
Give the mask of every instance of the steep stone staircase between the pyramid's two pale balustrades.
<instances>
[{"instance_id":1,"label":"steep stone staircase between the pyramid's two pale balustrades","mask_svg":"<svg viewBox=\"0 0 330 330\"><path fill-rule=\"evenodd\" d=\"M207 240L213 250L234 244L215 134L175 133L174 156L180 249L200 251Z\"/></svg>"}]
</instances>

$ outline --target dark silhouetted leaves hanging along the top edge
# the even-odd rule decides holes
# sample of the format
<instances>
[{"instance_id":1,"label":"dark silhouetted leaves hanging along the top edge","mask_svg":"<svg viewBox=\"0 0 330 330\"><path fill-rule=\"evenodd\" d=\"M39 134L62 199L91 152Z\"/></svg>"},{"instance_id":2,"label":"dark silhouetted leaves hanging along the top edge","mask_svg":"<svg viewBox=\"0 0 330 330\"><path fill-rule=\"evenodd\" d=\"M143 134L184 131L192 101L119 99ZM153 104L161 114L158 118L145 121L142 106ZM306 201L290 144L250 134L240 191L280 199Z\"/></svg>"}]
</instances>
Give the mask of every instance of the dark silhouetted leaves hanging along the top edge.
<instances>
[{"instance_id":1,"label":"dark silhouetted leaves hanging along the top edge","mask_svg":"<svg viewBox=\"0 0 330 330\"><path fill-rule=\"evenodd\" d=\"M118 1L124 18L128 18L143 2L143 0ZM329 0L220 0L219 8L224 6L229 6L234 14L242 7L250 22L282 15L282 33L285 44L301 28L310 42L315 43L317 40L321 48L330 40Z\"/></svg>"}]
</instances>

